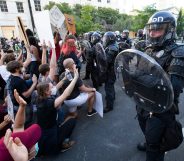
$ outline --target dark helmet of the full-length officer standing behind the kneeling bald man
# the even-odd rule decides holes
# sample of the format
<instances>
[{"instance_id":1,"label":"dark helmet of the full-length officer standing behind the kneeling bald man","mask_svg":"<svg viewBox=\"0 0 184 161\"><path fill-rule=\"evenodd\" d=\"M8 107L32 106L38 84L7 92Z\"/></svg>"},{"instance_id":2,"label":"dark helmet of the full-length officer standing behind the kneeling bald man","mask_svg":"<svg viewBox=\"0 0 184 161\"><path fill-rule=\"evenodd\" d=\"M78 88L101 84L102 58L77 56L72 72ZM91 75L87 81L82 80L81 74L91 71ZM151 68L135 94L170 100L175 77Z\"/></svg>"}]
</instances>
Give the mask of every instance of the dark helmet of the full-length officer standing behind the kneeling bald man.
<instances>
[{"instance_id":1,"label":"dark helmet of the full-length officer standing behind the kneeling bald man","mask_svg":"<svg viewBox=\"0 0 184 161\"><path fill-rule=\"evenodd\" d=\"M103 36L103 46L107 47L110 44L113 44L116 42L116 36L113 32L108 31Z\"/></svg>"}]
</instances>

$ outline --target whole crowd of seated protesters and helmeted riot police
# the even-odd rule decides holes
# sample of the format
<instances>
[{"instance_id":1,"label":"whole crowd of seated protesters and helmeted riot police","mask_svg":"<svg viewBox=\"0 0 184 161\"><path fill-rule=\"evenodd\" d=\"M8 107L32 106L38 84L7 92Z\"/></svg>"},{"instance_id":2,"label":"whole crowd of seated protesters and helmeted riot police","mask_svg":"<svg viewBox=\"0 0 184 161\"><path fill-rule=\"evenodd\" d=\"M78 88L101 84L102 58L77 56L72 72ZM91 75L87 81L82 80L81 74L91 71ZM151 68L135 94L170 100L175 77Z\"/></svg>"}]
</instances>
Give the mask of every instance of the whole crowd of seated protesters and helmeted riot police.
<instances>
[{"instance_id":1,"label":"whole crowd of seated protesters and helmeted riot police","mask_svg":"<svg viewBox=\"0 0 184 161\"><path fill-rule=\"evenodd\" d=\"M150 115L151 111L136 106L145 135L145 143L138 144L138 149L146 151L146 161L164 161L165 151L160 149L164 129L179 113L178 98L184 87L184 48L175 43L176 20L171 13L155 13L145 29L138 30L135 44L127 29L122 34L90 31L77 38L68 34L64 40L55 31L55 48L50 42L46 46L44 40L39 43L30 29L26 34L28 44L16 39L1 41L0 160L27 161L70 149L75 144L71 135L80 119L78 107L87 103L87 117L95 115L95 92L104 85L103 112L114 109L115 58L125 49L136 48L162 66L174 90L173 106L164 113ZM158 56L161 50L164 53ZM83 63L85 76L81 78ZM83 82L87 79L92 87Z\"/></svg>"}]
</instances>

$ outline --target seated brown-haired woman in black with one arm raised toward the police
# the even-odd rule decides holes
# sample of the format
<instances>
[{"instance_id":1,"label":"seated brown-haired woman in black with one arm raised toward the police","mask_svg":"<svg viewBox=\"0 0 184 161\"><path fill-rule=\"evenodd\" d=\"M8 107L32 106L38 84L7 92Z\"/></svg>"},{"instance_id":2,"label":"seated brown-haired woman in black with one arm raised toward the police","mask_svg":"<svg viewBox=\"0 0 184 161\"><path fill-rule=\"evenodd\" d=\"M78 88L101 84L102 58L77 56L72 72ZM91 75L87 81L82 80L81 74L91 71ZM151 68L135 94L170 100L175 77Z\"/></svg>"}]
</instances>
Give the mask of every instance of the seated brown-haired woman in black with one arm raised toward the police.
<instances>
[{"instance_id":1,"label":"seated brown-haired woman in black with one arm raised toward the police","mask_svg":"<svg viewBox=\"0 0 184 161\"><path fill-rule=\"evenodd\" d=\"M41 82L37 86L37 122L42 129L42 136L38 142L39 155L53 155L60 151L64 152L74 144L70 141L72 131L75 127L74 118L67 119L64 123L57 122L57 110L64 100L71 94L78 79L78 71L73 68L74 79L59 97L51 96L52 84ZM66 139L68 141L66 141ZM66 142L64 142L66 141Z\"/></svg>"}]
</instances>

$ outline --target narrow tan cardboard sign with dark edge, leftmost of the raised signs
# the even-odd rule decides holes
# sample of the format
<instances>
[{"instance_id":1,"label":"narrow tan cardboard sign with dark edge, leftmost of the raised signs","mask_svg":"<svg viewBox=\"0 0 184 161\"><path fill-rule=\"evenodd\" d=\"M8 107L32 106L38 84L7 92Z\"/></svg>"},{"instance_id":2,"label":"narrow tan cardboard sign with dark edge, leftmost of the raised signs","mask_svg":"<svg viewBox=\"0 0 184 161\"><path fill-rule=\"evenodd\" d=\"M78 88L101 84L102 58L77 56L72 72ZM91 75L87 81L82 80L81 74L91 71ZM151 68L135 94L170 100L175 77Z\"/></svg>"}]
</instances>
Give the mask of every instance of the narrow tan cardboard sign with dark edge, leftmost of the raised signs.
<instances>
[{"instance_id":1,"label":"narrow tan cardboard sign with dark edge, leftmost of the raised signs","mask_svg":"<svg viewBox=\"0 0 184 161\"><path fill-rule=\"evenodd\" d=\"M26 45L29 45L29 41L21 17L17 17L17 26L20 39L23 40Z\"/></svg>"}]
</instances>

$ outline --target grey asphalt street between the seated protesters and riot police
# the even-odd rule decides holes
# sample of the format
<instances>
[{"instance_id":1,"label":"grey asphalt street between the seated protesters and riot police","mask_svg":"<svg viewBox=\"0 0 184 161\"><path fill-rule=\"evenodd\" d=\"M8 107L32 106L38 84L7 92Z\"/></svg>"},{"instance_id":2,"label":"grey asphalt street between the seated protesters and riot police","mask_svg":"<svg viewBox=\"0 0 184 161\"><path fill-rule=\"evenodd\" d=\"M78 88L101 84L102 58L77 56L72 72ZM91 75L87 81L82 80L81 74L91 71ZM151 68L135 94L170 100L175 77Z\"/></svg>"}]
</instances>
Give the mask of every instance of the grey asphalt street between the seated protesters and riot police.
<instances>
[{"instance_id":1,"label":"grey asphalt street between the seated protesters and riot police","mask_svg":"<svg viewBox=\"0 0 184 161\"><path fill-rule=\"evenodd\" d=\"M90 83L85 82L85 83ZM79 110L79 118L72 138L76 144L72 149L57 156L37 158L36 161L145 161L145 153L136 149L144 141L138 126L135 103L117 81L114 110L87 117L86 105ZM99 90L104 97L104 87ZM184 126L184 95L180 97L180 115L177 118ZM165 161L183 161L184 143L165 156Z\"/></svg>"}]
</instances>

